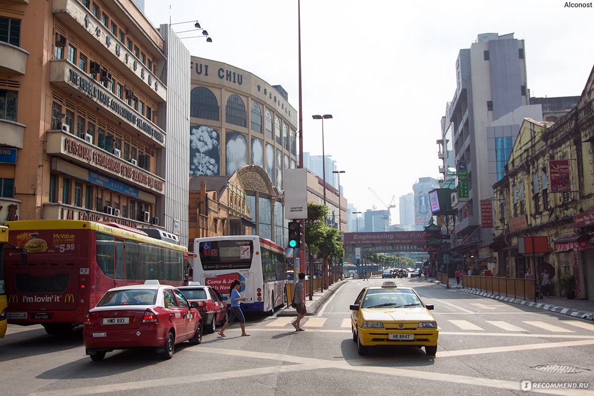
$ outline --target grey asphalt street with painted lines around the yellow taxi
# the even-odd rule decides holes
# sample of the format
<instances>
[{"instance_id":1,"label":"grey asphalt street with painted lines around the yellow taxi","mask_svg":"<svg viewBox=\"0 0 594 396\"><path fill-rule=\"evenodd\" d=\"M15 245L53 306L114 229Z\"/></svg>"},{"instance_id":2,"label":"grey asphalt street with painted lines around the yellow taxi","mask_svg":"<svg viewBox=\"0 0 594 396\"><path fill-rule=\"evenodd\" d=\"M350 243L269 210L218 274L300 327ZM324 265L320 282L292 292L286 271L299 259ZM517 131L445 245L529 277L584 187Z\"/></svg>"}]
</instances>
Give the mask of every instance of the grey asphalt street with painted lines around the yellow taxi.
<instances>
[{"instance_id":1,"label":"grey asphalt street with painted lines around the yellow taxi","mask_svg":"<svg viewBox=\"0 0 594 396\"><path fill-rule=\"evenodd\" d=\"M151 351L113 351L102 362L84 354L82 331L47 335L9 325L0 340L1 395L530 395L522 381L589 382L589 388L538 389L594 395L594 324L582 319L444 289L423 279L412 286L440 328L435 357L416 347L371 349L359 356L349 304L380 278L349 280L317 315L293 331L291 317L249 316L228 337L206 334L198 346L176 346L171 360ZM555 365L573 373L539 370ZM561 367L565 366L565 367ZM541 368L542 369L542 368ZM546 369L546 368L544 368Z\"/></svg>"}]
</instances>

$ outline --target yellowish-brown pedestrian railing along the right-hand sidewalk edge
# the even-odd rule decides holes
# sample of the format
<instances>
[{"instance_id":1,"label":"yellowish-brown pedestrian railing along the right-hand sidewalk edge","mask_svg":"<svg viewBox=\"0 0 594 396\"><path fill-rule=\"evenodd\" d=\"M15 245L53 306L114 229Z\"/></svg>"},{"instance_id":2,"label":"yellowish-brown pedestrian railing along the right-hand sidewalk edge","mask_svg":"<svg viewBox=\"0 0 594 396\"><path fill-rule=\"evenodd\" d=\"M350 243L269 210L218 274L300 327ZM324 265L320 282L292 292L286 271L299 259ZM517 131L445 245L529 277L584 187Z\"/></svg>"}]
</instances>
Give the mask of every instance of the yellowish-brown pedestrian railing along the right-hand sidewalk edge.
<instances>
[{"instance_id":1,"label":"yellowish-brown pedestrian railing along the right-hand sidewalk edge","mask_svg":"<svg viewBox=\"0 0 594 396\"><path fill-rule=\"evenodd\" d=\"M535 297L535 283L533 279L466 275L463 278L463 285L467 289L497 294L498 296L505 294L506 297L514 296L516 299L522 298L525 300L534 299Z\"/></svg>"}]
</instances>

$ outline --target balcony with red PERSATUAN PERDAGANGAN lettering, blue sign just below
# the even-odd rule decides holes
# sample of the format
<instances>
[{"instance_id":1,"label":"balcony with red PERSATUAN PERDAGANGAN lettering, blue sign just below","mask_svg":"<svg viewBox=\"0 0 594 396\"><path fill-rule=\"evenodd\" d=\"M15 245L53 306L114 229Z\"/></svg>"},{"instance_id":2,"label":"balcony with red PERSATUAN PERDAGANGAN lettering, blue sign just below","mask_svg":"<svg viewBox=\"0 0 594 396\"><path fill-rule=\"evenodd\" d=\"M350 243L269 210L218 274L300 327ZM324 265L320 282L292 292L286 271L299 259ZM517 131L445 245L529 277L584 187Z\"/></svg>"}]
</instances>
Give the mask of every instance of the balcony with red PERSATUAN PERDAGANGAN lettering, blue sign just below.
<instances>
[{"instance_id":1,"label":"balcony with red PERSATUAN PERDAGANGAN lettering, blue sign just below","mask_svg":"<svg viewBox=\"0 0 594 396\"><path fill-rule=\"evenodd\" d=\"M144 198L148 191L151 195L165 195L165 179L147 172L118 156L102 150L89 142L65 131L50 130L47 134L47 149L49 155L64 159L77 166L81 175L75 175L83 180L103 185L113 191L122 192L131 197ZM57 165L52 161L52 169ZM66 166L66 165L64 165ZM95 170L95 172L89 172ZM64 173L74 175L74 170L64 169ZM110 179L101 174L109 175ZM133 187L132 187L133 186ZM143 189L144 191L139 191ZM148 199L144 199L148 200Z\"/></svg>"}]
</instances>

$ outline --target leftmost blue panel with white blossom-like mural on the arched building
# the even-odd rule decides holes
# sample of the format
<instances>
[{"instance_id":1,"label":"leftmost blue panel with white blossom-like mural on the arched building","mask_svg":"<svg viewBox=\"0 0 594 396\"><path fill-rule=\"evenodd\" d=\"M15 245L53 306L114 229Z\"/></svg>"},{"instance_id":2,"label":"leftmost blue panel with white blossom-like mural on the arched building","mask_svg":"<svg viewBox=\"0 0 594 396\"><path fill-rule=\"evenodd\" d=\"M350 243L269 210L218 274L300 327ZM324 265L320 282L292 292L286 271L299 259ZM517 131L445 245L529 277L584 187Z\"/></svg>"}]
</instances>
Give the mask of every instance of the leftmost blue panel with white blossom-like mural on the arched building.
<instances>
[{"instance_id":1,"label":"leftmost blue panel with white blossom-like mural on the arched building","mask_svg":"<svg viewBox=\"0 0 594 396\"><path fill-rule=\"evenodd\" d=\"M190 175L219 174L219 134L210 126L189 129Z\"/></svg>"}]
</instances>

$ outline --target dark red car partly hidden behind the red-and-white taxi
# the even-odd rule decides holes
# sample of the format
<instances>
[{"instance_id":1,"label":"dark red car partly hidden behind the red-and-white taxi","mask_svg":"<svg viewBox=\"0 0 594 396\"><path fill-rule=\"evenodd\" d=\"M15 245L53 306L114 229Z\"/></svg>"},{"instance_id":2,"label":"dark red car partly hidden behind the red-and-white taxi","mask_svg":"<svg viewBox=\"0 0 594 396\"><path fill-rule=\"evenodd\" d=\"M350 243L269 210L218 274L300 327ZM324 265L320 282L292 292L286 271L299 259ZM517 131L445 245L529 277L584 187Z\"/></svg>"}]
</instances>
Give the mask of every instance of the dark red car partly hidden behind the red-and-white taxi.
<instances>
[{"instance_id":1,"label":"dark red car partly hidden behind the red-and-white taxi","mask_svg":"<svg viewBox=\"0 0 594 396\"><path fill-rule=\"evenodd\" d=\"M217 325L222 326L229 319L227 303L214 287L190 282L189 286L181 286L178 289L184 293L189 302L198 303L198 311L205 323L205 332L214 332Z\"/></svg>"}]
</instances>

